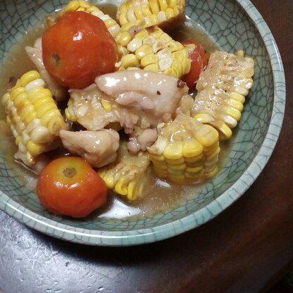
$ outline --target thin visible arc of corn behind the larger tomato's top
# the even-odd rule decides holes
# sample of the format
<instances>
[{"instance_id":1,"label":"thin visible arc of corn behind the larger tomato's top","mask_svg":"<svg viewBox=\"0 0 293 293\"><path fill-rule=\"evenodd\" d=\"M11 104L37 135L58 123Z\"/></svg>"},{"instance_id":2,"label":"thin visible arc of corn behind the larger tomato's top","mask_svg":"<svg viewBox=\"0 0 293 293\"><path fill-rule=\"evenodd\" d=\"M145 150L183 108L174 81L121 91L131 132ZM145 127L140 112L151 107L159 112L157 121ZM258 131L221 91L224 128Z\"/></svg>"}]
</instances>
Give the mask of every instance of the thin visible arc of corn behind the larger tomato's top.
<instances>
[{"instance_id":1,"label":"thin visible arc of corn behind the larger tomato's top","mask_svg":"<svg viewBox=\"0 0 293 293\"><path fill-rule=\"evenodd\" d=\"M85 11L91 13L98 18L101 18L113 37L116 37L116 35L120 31L120 25L118 25L116 20L113 20L113 18L111 18L108 14L104 14L104 12L101 11L98 7L89 4L89 2L85 0L69 1L67 6L64 7L60 13L58 13L58 17L61 17L64 13L68 11Z\"/></svg>"}]
</instances>

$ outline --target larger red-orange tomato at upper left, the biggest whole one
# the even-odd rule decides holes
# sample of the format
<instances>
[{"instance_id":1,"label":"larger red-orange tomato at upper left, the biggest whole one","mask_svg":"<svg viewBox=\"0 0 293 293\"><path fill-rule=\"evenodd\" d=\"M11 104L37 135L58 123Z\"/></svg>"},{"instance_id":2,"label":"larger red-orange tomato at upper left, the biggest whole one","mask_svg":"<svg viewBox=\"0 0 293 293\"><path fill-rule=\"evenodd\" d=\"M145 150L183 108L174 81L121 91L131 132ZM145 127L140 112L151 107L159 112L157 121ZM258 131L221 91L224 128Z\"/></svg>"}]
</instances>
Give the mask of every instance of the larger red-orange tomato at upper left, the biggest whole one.
<instances>
[{"instance_id":1,"label":"larger red-orange tomato at upper left, the biggest whole one","mask_svg":"<svg viewBox=\"0 0 293 293\"><path fill-rule=\"evenodd\" d=\"M111 73L118 47L103 20L85 11L68 12L42 36L46 70L61 85L82 89Z\"/></svg>"}]
</instances>

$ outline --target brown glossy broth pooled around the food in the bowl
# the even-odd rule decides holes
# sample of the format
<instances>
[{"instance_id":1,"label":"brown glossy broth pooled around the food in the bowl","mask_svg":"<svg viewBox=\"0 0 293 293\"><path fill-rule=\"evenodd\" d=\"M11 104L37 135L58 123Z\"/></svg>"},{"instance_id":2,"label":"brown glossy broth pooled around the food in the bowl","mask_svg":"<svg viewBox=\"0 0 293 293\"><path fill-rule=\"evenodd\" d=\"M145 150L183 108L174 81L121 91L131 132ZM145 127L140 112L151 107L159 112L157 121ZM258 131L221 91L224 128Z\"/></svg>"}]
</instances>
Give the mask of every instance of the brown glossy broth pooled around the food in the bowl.
<instances>
[{"instance_id":1,"label":"brown glossy broth pooled around the food in the bowl","mask_svg":"<svg viewBox=\"0 0 293 293\"><path fill-rule=\"evenodd\" d=\"M109 15L115 15L115 7L113 5L103 5L100 8ZM24 50L25 46L32 46L37 37L42 35L44 31L44 23L40 23L34 30L31 30L23 39L15 44L11 49L8 57L2 65L2 72L0 78L0 96L6 92L10 87L9 82L11 77L17 79L23 73L35 69L30 59ZM175 33L173 33L175 32ZM195 25L192 20L187 19L186 23L176 27L170 35L182 41L184 39L197 39L207 51L214 51L218 46L212 39L208 37L204 29ZM14 144L14 139L5 121L5 113L3 107L0 107L0 139L1 149L6 154L6 161L15 170L15 175L23 180L23 184L30 190L35 191L37 182L37 175L31 170L28 170L20 163L15 162L14 154L17 147ZM125 217L142 217L151 216L160 211L168 211L182 204L190 197L196 197L199 194L201 185L176 185L174 183L166 182L158 177L155 177L151 171L144 182L146 187L144 197L134 202L124 201L117 197L113 192L109 192L108 204L97 217L109 218L125 218ZM37 197L37 196L36 196Z\"/></svg>"}]
</instances>

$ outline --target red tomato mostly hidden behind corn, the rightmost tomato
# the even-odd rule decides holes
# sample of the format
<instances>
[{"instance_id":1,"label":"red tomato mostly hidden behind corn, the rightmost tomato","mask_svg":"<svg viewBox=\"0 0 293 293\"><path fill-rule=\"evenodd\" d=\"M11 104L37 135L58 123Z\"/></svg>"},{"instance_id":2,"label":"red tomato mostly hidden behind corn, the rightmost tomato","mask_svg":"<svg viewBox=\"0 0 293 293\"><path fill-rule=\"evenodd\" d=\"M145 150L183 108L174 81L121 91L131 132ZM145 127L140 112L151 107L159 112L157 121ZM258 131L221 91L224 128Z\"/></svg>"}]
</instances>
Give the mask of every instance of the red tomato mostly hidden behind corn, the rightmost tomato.
<instances>
[{"instance_id":1,"label":"red tomato mostly hidden behind corn, the rightmost tomato","mask_svg":"<svg viewBox=\"0 0 293 293\"><path fill-rule=\"evenodd\" d=\"M189 73L182 77L182 80L187 83L189 89L194 89L195 85L197 85L197 80L199 80L201 71L208 65L208 53L204 50L204 47L194 39L189 39L182 44L194 46L194 49L189 51L192 66Z\"/></svg>"}]
</instances>

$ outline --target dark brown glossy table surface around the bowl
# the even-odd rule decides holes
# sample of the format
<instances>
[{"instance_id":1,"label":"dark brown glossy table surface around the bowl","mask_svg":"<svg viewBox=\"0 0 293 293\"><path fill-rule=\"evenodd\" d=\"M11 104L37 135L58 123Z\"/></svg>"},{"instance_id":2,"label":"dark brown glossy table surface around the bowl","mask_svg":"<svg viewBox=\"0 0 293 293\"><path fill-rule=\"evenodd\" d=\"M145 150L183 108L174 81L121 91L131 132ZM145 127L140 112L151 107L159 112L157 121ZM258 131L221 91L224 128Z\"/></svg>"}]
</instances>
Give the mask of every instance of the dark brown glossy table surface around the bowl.
<instances>
[{"instance_id":1,"label":"dark brown glossy table surface around the bowl","mask_svg":"<svg viewBox=\"0 0 293 293\"><path fill-rule=\"evenodd\" d=\"M254 293L292 268L293 1L252 2L273 32L287 78L280 139L254 185L205 225L139 247L63 242L0 211L1 293Z\"/></svg>"}]
</instances>

